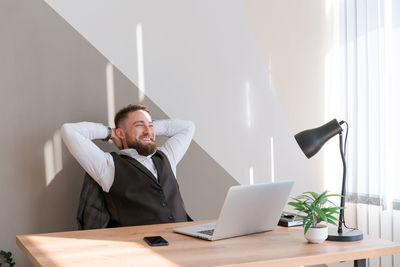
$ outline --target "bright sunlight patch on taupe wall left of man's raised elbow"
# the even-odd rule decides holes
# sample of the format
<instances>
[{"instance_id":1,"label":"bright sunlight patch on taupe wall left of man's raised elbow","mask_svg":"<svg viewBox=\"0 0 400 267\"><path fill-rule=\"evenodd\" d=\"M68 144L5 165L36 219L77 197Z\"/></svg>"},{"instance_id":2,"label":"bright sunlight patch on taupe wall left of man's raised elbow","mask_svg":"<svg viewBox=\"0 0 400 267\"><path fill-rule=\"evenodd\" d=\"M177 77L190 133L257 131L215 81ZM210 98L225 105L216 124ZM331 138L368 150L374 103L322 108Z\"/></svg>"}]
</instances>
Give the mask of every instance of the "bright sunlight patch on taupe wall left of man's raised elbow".
<instances>
[{"instance_id":1,"label":"bright sunlight patch on taupe wall left of man's raised elbow","mask_svg":"<svg viewBox=\"0 0 400 267\"><path fill-rule=\"evenodd\" d=\"M61 134L59 130L54 133L53 139L47 140L43 150L46 186L48 186L63 168Z\"/></svg>"}]
</instances>

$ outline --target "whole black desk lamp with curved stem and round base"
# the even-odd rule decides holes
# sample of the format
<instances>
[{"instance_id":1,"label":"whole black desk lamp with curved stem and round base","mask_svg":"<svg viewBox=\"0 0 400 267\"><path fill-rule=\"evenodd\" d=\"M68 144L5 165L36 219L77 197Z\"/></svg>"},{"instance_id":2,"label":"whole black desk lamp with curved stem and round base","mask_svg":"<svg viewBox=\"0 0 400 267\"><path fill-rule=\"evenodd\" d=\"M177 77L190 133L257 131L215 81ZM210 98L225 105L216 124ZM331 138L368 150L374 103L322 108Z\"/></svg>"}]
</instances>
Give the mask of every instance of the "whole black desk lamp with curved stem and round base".
<instances>
[{"instance_id":1,"label":"whole black desk lamp with curved stem and round base","mask_svg":"<svg viewBox=\"0 0 400 267\"><path fill-rule=\"evenodd\" d=\"M333 136L339 134L339 146L340 146L340 155L342 156L343 162L343 180L342 180L342 197L340 199L340 206L342 209L339 214L339 225L337 231L335 229L329 229L328 240L331 241L357 241L363 239L363 234L360 230L356 228L347 228L346 223L344 221L344 206L345 206L345 198L346 198L346 160L345 160L345 150L346 150L346 142L343 145L343 137L342 137L342 125L346 123L345 121L341 121L338 123L336 119L331 120L330 122L322 125L321 127L305 130L294 137L296 138L297 143L300 148L303 150L304 154L307 158L311 158L322 148L326 141L331 139ZM347 125L347 123L346 123ZM346 127L346 140L347 140L347 130ZM344 224L345 229L342 228Z\"/></svg>"}]
</instances>

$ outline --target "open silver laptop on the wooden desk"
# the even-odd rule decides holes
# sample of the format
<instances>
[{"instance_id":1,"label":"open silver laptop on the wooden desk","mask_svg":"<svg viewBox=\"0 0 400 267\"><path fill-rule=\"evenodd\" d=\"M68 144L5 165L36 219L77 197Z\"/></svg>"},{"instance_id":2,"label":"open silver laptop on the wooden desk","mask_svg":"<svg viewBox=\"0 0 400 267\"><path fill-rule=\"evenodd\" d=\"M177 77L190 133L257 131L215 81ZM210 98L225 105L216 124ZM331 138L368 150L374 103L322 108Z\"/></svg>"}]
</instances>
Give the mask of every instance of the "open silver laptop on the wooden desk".
<instances>
[{"instance_id":1,"label":"open silver laptop on the wooden desk","mask_svg":"<svg viewBox=\"0 0 400 267\"><path fill-rule=\"evenodd\" d=\"M232 186L216 223L175 228L174 232L219 240L273 230L293 184L293 181L282 181Z\"/></svg>"}]
</instances>

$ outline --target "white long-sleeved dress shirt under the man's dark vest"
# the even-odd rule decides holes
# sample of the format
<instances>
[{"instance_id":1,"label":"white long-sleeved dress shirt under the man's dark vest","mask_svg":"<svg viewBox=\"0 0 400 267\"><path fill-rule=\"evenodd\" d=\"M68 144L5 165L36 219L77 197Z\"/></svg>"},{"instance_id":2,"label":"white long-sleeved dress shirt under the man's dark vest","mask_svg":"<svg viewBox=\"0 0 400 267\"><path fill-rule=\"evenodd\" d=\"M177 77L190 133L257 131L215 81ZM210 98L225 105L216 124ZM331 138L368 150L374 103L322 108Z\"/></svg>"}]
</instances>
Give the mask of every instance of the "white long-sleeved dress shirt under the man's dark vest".
<instances>
[{"instance_id":1,"label":"white long-sleeved dress shirt under the man's dark vest","mask_svg":"<svg viewBox=\"0 0 400 267\"><path fill-rule=\"evenodd\" d=\"M176 165L192 141L195 126L193 122L183 120L157 120L153 125L156 136L169 137L163 146L157 149L167 156L176 177ZM114 182L114 160L109 152L102 151L92 140L104 139L107 134L107 127L101 123L65 123L61 127L61 136L71 154L105 192L110 190ZM136 159L157 178L152 155L139 155L132 148L120 150L119 154Z\"/></svg>"}]
</instances>

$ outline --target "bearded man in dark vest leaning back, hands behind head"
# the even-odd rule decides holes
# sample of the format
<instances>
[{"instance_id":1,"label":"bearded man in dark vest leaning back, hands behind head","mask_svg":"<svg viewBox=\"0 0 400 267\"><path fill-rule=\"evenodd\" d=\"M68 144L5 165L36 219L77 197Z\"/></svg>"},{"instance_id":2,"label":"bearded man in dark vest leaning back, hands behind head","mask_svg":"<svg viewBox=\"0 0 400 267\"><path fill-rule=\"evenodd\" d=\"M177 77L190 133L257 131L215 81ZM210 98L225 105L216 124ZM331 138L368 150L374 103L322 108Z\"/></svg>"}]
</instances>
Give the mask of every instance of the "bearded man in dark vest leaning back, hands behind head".
<instances>
[{"instance_id":1,"label":"bearded man in dark vest leaning back, hands behind head","mask_svg":"<svg viewBox=\"0 0 400 267\"><path fill-rule=\"evenodd\" d=\"M64 143L86 172L101 186L111 214L110 226L187 220L176 182L176 165L194 134L182 120L152 121L143 105L128 105L115 115L116 128L99 123L66 123ZM169 137L157 148L156 135ZM103 152L92 140L111 138L118 153Z\"/></svg>"}]
</instances>

